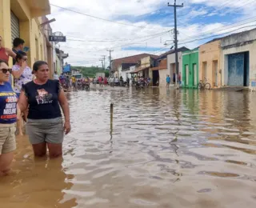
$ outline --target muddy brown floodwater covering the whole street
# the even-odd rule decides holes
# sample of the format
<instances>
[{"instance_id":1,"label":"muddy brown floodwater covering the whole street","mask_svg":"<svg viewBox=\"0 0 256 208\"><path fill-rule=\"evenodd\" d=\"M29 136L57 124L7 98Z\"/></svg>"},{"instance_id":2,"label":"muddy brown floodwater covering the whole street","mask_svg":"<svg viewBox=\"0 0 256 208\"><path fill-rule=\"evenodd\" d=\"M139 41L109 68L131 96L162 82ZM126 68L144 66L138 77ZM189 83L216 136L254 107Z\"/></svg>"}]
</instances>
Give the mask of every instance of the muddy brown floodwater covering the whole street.
<instances>
[{"instance_id":1,"label":"muddy brown floodwater covering the whole street","mask_svg":"<svg viewBox=\"0 0 256 208\"><path fill-rule=\"evenodd\" d=\"M256 94L77 92L63 160L17 138L2 208L255 208ZM114 102L110 130L110 102Z\"/></svg>"}]
</instances>

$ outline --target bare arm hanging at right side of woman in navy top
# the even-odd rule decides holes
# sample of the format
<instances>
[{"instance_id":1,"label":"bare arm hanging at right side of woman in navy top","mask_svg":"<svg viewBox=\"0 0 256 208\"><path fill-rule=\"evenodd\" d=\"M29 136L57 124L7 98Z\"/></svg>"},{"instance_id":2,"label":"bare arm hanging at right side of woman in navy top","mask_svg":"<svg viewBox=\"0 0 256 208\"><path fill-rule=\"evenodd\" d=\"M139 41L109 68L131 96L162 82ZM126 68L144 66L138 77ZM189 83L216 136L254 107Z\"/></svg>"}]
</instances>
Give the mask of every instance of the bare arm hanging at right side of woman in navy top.
<instances>
[{"instance_id":1,"label":"bare arm hanging at right side of woman in navy top","mask_svg":"<svg viewBox=\"0 0 256 208\"><path fill-rule=\"evenodd\" d=\"M66 100L66 96L64 93L64 90L60 90L58 94L58 102L62 107L62 111L65 117L65 123L64 123L64 130L66 134L70 133L71 127L70 127L70 107L69 103Z\"/></svg>"}]
</instances>

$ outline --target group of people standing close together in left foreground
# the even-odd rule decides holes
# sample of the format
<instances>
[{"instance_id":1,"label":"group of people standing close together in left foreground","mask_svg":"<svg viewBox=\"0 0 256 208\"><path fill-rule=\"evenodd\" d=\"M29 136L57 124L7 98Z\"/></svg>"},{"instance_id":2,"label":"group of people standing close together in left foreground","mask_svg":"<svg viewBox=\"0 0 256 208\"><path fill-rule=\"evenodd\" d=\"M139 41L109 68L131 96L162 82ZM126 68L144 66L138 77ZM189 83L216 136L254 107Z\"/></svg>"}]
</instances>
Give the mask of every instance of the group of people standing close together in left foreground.
<instances>
[{"instance_id":1,"label":"group of people standing close together in left foreground","mask_svg":"<svg viewBox=\"0 0 256 208\"><path fill-rule=\"evenodd\" d=\"M47 147L50 158L61 156L64 134L70 132L70 110L60 82L49 78L47 62L35 62L30 69L24 43L15 38L10 50L2 46L0 36L0 176L10 171L15 133L22 135L22 120L35 157L45 156ZM8 66L10 57L14 58L12 68Z\"/></svg>"}]
</instances>

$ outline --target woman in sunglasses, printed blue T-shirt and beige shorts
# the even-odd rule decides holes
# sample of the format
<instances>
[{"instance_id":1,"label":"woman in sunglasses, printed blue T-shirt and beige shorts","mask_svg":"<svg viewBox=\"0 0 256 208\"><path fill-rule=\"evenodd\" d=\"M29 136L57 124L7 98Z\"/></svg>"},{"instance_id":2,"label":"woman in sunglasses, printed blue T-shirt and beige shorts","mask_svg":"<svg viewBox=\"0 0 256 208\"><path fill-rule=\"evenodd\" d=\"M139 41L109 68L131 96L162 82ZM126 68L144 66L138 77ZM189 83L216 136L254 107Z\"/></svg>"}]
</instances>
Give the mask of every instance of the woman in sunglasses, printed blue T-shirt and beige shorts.
<instances>
[{"instance_id":1,"label":"woman in sunglasses, printed blue T-shirt and beige shorts","mask_svg":"<svg viewBox=\"0 0 256 208\"><path fill-rule=\"evenodd\" d=\"M10 86L11 69L0 59L0 176L8 174L16 150L17 96Z\"/></svg>"}]
</instances>

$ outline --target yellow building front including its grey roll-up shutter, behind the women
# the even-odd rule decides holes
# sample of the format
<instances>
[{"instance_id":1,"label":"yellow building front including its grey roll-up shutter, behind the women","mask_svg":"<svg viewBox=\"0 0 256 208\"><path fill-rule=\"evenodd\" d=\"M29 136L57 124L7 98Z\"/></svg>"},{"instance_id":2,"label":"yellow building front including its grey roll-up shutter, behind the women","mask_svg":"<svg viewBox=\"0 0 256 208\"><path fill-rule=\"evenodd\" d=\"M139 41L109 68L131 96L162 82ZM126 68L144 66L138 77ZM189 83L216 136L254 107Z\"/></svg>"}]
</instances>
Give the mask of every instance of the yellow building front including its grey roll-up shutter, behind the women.
<instances>
[{"instance_id":1,"label":"yellow building front including its grey roll-up shutter, behind the women","mask_svg":"<svg viewBox=\"0 0 256 208\"><path fill-rule=\"evenodd\" d=\"M50 14L49 0L0 0L0 35L3 46L11 49L13 39L22 38L25 46L30 48L27 52L30 67L35 61L46 60L41 26L41 17L46 14Z\"/></svg>"}]
</instances>

